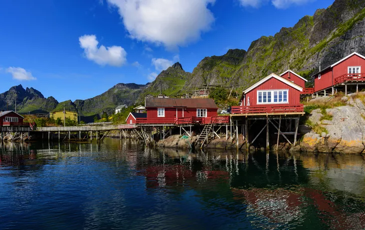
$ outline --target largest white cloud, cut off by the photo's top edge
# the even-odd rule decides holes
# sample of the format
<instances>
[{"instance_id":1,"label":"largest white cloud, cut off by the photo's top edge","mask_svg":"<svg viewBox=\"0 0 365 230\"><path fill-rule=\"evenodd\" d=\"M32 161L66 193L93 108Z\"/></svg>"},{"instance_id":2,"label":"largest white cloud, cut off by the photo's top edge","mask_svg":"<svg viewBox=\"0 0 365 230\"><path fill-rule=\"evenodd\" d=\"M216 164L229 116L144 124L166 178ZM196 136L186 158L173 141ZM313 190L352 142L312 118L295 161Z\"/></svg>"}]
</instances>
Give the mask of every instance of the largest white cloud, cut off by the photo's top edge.
<instances>
[{"instance_id":1,"label":"largest white cloud, cut off by the photo's top edge","mask_svg":"<svg viewBox=\"0 0 365 230\"><path fill-rule=\"evenodd\" d=\"M107 0L118 8L132 38L162 43L168 48L184 45L210 29L215 0Z\"/></svg>"}]
</instances>

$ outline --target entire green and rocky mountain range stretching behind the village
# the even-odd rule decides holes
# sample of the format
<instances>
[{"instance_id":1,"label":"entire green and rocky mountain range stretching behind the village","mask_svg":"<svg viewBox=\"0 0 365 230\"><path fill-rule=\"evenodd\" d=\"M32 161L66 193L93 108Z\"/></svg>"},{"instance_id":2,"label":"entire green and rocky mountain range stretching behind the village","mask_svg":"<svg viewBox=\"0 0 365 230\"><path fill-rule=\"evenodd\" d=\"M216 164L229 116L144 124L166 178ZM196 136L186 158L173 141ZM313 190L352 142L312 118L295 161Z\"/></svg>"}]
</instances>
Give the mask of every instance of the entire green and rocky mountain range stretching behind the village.
<instances>
[{"instance_id":1,"label":"entire green and rocky mountain range stretching behind the village","mask_svg":"<svg viewBox=\"0 0 365 230\"><path fill-rule=\"evenodd\" d=\"M177 96L205 84L235 85L240 90L288 67L310 79L319 63L326 67L354 51L365 54L364 18L364 0L335 0L328 8L302 17L293 27L260 37L247 50L229 49L224 55L203 58L191 73L177 62L151 83L118 83L100 95L73 102L58 102L34 88L17 85L0 94L0 109L14 110L16 92L20 113L61 110L65 104L67 110L93 117L111 113L120 104L142 103L147 95Z\"/></svg>"}]
</instances>

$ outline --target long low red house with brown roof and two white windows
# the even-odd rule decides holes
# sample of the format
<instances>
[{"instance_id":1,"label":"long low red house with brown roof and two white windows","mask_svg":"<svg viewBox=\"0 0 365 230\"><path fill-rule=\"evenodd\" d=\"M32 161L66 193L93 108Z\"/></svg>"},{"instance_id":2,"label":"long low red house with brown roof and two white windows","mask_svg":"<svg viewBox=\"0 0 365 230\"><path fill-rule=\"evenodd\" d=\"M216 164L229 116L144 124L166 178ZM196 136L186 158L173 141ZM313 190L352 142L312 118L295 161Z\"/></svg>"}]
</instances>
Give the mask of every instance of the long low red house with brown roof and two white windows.
<instances>
[{"instance_id":1,"label":"long low red house with brown roof and two white windows","mask_svg":"<svg viewBox=\"0 0 365 230\"><path fill-rule=\"evenodd\" d=\"M217 116L217 105L211 98L145 98L146 118L136 123L205 122ZM195 121L191 121L195 119Z\"/></svg>"}]
</instances>

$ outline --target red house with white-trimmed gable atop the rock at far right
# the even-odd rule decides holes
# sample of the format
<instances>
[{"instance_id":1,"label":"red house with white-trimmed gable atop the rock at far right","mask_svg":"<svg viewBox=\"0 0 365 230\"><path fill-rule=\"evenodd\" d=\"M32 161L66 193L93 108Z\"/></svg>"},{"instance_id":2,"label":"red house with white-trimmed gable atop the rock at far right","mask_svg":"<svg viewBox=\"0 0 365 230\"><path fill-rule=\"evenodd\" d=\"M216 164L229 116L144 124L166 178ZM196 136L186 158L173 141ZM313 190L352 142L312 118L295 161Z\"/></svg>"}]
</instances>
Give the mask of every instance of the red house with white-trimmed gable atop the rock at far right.
<instances>
[{"instance_id":1,"label":"red house with white-trimmed gable atop the rock at far right","mask_svg":"<svg viewBox=\"0 0 365 230\"><path fill-rule=\"evenodd\" d=\"M356 85L355 90L357 91L358 84L365 80L365 74L361 74L362 65L365 66L365 56L353 52L336 63L321 69L312 76L314 78L314 92L323 91L324 95L326 93L333 94L335 89L344 87L347 94L348 85Z\"/></svg>"}]
</instances>

